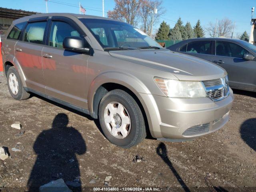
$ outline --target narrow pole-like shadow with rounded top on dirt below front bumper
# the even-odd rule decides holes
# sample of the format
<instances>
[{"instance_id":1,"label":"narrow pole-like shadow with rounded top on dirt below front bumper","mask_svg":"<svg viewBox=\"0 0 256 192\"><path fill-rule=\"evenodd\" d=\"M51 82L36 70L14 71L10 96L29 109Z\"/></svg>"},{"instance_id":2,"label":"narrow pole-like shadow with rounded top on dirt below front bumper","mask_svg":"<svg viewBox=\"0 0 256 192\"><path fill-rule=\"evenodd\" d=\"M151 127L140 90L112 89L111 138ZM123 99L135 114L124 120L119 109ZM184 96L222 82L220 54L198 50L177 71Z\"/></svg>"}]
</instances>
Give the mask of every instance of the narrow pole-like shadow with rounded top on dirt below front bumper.
<instances>
[{"instance_id":1,"label":"narrow pole-like shadow with rounded top on dirt below front bumper","mask_svg":"<svg viewBox=\"0 0 256 192\"><path fill-rule=\"evenodd\" d=\"M168 158L166 146L163 142L161 142L158 147L156 148L156 153L162 158L162 160L169 166L170 170L173 172L175 177L177 178L178 182L186 192L190 192L188 186L184 183L176 169L172 166L172 162Z\"/></svg>"}]
</instances>

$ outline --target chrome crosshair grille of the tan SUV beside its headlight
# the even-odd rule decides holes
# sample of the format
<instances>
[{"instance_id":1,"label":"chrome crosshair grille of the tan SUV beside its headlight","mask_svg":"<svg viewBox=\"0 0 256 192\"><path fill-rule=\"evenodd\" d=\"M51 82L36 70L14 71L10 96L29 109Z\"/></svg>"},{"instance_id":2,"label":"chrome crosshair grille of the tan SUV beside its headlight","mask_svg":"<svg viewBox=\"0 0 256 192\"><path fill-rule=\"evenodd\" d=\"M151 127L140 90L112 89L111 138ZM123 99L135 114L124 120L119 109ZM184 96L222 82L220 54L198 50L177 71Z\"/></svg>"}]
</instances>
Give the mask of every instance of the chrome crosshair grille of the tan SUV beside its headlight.
<instances>
[{"instance_id":1,"label":"chrome crosshair grille of the tan SUV beside its headlight","mask_svg":"<svg viewBox=\"0 0 256 192\"><path fill-rule=\"evenodd\" d=\"M208 96L214 101L222 100L229 94L228 82L225 78L203 81L203 83Z\"/></svg>"}]
</instances>

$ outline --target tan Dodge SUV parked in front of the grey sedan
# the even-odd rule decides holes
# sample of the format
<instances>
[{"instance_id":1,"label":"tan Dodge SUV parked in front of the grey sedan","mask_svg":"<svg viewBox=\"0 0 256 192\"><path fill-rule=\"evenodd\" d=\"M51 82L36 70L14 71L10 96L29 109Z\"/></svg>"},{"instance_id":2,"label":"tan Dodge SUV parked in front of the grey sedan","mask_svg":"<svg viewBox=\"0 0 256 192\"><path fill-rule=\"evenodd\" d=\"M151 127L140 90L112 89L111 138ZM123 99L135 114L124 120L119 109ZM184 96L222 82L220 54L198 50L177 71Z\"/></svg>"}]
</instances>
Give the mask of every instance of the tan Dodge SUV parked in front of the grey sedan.
<instances>
[{"instance_id":1,"label":"tan Dodge SUV parked in front of the grey sedan","mask_svg":"<svg viewBox=\"0 0 256 192\"><path fill-rule=\"evenodd\" d=\"M228 121L233 94L225 70L162 48L130 24L36 14L15 20L7 34L4 74L14 99L35 93L90 114L123 148L146 134L191 140Z\"/></svg>"}]
</instances>

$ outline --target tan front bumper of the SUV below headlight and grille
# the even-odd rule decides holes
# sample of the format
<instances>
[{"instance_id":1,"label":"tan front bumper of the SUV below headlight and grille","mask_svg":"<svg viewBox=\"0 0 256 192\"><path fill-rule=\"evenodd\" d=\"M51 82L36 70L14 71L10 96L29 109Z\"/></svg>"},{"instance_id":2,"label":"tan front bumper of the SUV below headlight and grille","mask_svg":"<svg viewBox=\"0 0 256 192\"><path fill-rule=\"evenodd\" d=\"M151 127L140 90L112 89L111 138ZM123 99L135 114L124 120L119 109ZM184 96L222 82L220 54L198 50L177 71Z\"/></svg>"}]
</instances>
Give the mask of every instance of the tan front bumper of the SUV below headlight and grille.
<instances>
[{"instance_id":1,"label":"tan front bumper of the SUV below headlight and grille","mask_svg":"<svg viewBox=\"0 0 256 192\"><path fill-rule=\"evenodd\" d=\"M229 111L234 100L233 92L223 100L213 102L210 98L168 98L153 95L155 110L149 111L150 117L158 121L150 132L155 138L191 140L220 129L229 119ZM152 113L157 114L155 117ZM186 135L188 128L209 124L207 132Z\"/></svg>"}]
</instances>

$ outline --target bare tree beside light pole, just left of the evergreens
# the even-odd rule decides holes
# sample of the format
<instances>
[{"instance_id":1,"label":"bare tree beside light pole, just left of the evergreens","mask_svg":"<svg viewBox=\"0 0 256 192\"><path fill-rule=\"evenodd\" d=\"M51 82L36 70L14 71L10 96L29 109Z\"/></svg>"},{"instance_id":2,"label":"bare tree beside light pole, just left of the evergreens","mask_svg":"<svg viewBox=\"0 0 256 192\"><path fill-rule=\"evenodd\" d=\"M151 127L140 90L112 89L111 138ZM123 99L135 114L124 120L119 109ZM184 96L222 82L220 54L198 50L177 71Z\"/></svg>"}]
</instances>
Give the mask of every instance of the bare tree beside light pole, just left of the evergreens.
<instances>
[{"instance_id":1,"label":"bare tree beside light pole, just left of the evergreens","mask_svg":"<svg viewBox=\"0 0 256 192\"><path fill-rule=\"evenodd\" d=\"M153 12L154 8L157 8L158 12L154 15L153 20ZM162 0L142 0L140 6L140 16L142 26L141 29L150 34L151 25L153 22L153 26L159 22L159 18L165 13L164 7L162 7Z\"/></svg>"}]
</instances>

